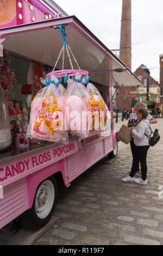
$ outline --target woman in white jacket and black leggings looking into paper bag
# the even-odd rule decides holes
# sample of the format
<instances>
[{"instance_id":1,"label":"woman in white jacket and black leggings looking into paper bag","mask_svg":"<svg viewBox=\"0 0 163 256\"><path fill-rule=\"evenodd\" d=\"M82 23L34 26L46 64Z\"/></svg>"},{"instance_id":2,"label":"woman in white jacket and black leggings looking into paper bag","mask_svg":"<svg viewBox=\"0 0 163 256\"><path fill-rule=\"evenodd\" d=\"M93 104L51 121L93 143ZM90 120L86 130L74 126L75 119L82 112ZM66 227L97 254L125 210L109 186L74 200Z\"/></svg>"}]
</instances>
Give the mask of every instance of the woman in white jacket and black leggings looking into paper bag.
<instances>
[{"instance_id":1,"label":"woman in white jacket and black leggings looking into paper bag","mask_svg":"<svg viewBox=\"0 0 163 256\"><path fill-rule=\"evenodd\" d=\"M130 175L123 178L123 182L135 181L137 184L147 185L147 152L149 149L149 139L147 136L151 135L148 121L148 111L146 108L139 108L137 111L137 118L139 121L136 126L131 127L134 138L135 150L133 154L133 164ZM137 163L141 164L142 176L140 179L135 179L137 171Z\"/></svg>"}]
</instances>

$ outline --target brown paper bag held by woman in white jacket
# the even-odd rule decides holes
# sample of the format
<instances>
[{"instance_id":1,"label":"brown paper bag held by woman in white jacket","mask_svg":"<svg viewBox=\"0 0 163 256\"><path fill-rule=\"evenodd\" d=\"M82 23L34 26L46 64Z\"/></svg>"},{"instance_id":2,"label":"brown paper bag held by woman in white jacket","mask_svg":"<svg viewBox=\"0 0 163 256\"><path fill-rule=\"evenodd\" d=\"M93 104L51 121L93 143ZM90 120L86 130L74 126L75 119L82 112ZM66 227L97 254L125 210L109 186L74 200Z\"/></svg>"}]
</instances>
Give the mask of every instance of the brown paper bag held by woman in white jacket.
<instances>
[{"instance_id":1,"label":"brown paper bag held by woman in white jacket","mask_svg":"<svg viewBox=\"0 0 163 256\"><path fill-rule=\"evenodd\" d=\"M118 139L118 141L124 142L125 144L128 144L132 139L132 132L129 127L123 124L120 131L118 131L116 135L116 139Z\"/></svg>"}]
</instances>

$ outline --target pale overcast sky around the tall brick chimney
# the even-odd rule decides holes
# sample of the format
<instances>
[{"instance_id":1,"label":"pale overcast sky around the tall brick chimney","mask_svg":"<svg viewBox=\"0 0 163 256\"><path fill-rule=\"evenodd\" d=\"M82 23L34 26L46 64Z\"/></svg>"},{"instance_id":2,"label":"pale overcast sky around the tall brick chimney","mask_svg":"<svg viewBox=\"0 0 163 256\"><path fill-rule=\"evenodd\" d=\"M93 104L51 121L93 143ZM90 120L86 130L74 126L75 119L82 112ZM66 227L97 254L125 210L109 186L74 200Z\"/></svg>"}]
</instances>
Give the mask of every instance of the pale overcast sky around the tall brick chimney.
<instances>
[{"instance_id":1,"label":"pale overcast sky around the tall brick chimney","mask_svg":"<svg viewBox=\"0 0 163 256\"><path fill-rule=\"evenodd\" d=\"M54 0L68 15L76 15L110 50L120 48L122 0ZM160 81L163 53L163 0L131 0L132 68L144 64Z\"/></svg>"}]
</instances>

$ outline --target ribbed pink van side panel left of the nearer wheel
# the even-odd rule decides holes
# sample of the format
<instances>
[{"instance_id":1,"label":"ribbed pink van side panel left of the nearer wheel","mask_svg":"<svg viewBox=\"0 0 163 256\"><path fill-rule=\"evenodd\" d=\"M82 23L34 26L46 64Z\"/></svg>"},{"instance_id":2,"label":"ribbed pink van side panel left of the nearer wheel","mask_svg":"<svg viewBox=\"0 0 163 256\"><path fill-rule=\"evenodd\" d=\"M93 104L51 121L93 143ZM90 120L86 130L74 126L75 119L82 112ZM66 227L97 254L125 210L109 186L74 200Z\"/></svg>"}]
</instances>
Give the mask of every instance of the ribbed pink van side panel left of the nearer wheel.
<instances>
[{"instance_id":1,"label":"ribbed pink van side panel left of the nearer wheel","mask_svg":"<svg viewBox=\"0 0 163 256\"><path fill-rule=\"evenodd\" d=\"M26 178L5 186L3 197L0 199L0 229L28 209Z\"/></svg>"}]
</instances>

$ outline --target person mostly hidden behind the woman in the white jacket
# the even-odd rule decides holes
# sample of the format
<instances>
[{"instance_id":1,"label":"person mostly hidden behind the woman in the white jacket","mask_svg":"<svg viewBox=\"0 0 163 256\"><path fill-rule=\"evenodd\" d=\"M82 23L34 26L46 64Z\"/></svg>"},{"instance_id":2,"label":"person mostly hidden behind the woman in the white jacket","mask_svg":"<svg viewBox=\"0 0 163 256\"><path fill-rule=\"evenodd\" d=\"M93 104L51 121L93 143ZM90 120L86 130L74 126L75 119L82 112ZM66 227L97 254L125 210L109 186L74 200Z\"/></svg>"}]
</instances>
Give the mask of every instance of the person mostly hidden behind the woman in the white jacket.
<instances>
[{"instance_id":1,"label":"person mostly hidden behind the woman in the white jacket","mask_svg":"<svg viewBox=\"0 0 163 256\"><path fill-rule=\"evenodd\" d=\"M131 113L128 119L128 127L136 126L137 123L139 122L139 119L137 117L137 112L139 111L139 108L146 108L145 103L143 102L137 102L135 105L135 113ZM152 115L148 114L147 119L149 121L149 124L156 124L158 121L152 117ZM135 143L134 143L134 138L132 138L130 142L130 148L131 148L131 153L134 157L134 151L135 151ZM137 161L137 175L141 175L140 169L139 169L139 161Z\"/></svg>"}]
</instances>

